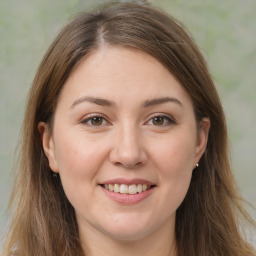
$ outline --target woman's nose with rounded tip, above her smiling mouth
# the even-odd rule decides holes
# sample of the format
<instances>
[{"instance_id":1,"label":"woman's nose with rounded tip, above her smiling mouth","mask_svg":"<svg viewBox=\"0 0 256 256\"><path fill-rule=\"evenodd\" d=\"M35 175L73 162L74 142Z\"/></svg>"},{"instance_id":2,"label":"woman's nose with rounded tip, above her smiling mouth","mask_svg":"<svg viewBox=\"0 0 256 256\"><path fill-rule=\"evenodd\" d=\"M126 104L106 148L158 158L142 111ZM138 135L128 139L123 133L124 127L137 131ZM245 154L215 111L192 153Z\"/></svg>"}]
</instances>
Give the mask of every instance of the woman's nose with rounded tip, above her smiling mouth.
<instances>
[{"instance_id":1,"label":"woman's nose with rounded tip, above her smiling mouth","mask_svg":"<svg viewBox=\"0 0 256 256\"><path fill-rule=\"evenodd\" d=\"M110 161L117 166L137 168L148 161L140 132L126 125L118 129L110 152Z\"/></svg>"}]
</instances>

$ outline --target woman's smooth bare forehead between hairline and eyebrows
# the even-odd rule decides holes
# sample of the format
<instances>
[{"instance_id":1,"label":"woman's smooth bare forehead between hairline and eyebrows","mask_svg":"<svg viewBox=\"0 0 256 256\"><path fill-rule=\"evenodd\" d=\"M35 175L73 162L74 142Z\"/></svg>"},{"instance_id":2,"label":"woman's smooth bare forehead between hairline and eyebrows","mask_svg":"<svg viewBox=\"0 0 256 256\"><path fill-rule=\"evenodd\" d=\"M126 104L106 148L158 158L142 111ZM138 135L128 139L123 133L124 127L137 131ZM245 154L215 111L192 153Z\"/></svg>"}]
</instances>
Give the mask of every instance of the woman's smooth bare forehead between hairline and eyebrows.
<instances>
[{"instance_id":1,"label":"woman's smooth bare forehead between hairline and eyebrows","mask_svg":"<svg viewBox=\"0 0 256 256\"><path fill-rule=\"evenodd\" d=\"M99 96L113 101L189 95L169 70L154 57L133 49L104 46L88 54L68 77L59 100Z\"/></svg>"}]
</instances>

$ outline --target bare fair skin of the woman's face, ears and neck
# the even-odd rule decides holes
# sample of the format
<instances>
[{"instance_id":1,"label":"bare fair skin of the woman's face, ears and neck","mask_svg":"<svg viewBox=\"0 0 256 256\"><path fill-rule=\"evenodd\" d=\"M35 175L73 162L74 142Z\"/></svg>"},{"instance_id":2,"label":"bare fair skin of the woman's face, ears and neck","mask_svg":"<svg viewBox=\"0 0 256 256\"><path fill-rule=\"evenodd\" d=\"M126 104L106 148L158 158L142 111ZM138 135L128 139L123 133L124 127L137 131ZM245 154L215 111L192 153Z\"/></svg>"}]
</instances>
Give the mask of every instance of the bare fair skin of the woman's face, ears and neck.
<instances>
[{"instance_id":1,"label":"bare fair skin of the woman's face, ears and neck","mask_svg":"<svg viewBox=\"0 0 256 256\"><path fill-rule=\"evenodd\" d=\"M172 100L152 101L166 97ZM101 117L96 123L95 116ZM189 95L145 53L104 46L75 67L58 99L52 133L43 122L39 131L91 255L176 255L175 213L209 127L207 118L196 124ZM113 178L142 178L156 187L126 205L99 185Z\"/></svg>"}]
</instances>

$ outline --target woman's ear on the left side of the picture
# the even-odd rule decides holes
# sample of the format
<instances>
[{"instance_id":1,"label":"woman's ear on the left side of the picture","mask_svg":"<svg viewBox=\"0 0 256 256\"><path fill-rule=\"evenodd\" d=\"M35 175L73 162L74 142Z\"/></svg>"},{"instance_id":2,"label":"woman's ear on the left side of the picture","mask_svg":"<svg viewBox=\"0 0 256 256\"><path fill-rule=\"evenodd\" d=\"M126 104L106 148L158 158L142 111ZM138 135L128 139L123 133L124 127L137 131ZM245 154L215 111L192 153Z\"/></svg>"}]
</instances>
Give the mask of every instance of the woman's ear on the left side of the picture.
<instances>
[{"instance_id":1,"label":"woman's ear on the left side of the picture","mask_svg":"<svg viewBox=\"0 0 256 256\"><path fill-rule=\"evenodd\" d=\"M49 161L49 166L53 172L57 173L59 170L55 156L54 141L48 124L39 122L38 131L40 133L44 153Z\"/></svg>"}]
</instances>

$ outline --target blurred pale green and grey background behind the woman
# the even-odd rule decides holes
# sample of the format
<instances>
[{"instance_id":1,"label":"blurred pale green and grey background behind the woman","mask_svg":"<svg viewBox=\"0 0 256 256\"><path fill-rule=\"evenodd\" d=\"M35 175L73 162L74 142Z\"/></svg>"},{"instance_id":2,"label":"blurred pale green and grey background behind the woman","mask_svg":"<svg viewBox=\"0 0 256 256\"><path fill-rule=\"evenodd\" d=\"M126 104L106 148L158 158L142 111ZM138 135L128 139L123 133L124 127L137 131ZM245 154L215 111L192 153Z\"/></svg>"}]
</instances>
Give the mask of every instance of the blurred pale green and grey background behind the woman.
<instances>
[{"instance_id":1,"label":"blurred pale green and grey background behind the woman","mask_svg":"<svg viewBox=\"0 0 256 256\"><path fill-rule=\"evenodd\" d=\"M47 47L78 11L105 1L0 0L0 236L26 97ZM191 32L227 116L232 165L242 195L256 206L256 1L152 0ZM256 219L255 210L250 209Z\"/></svg>"}]
</instances>

